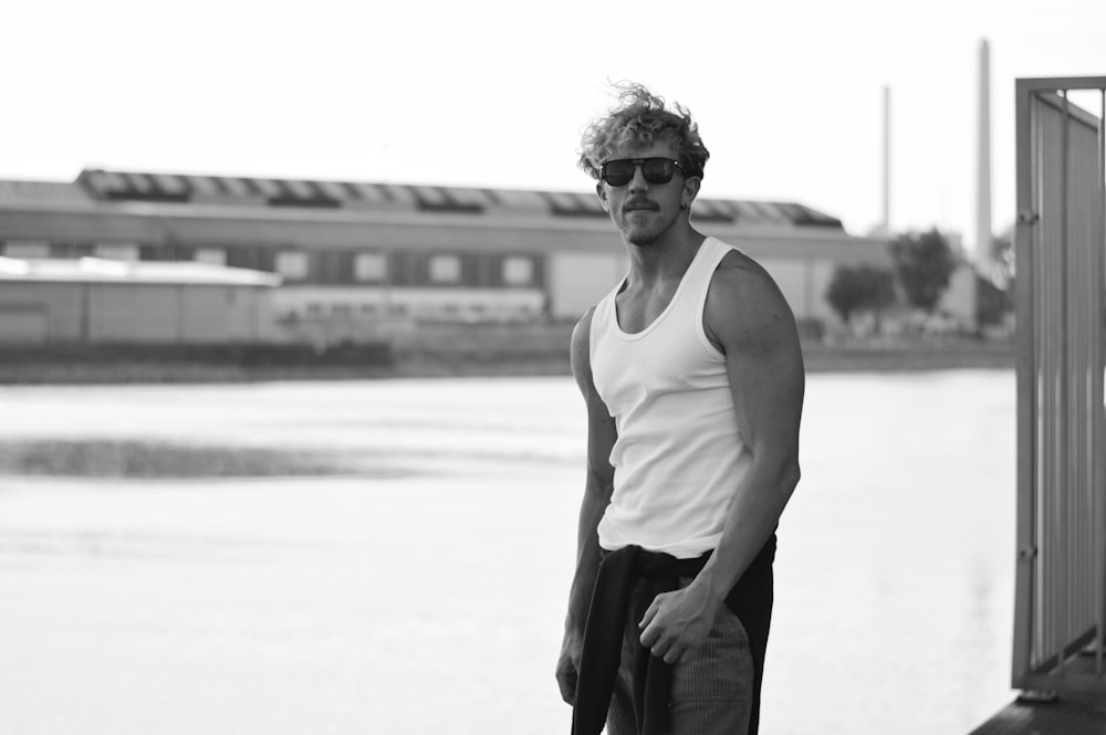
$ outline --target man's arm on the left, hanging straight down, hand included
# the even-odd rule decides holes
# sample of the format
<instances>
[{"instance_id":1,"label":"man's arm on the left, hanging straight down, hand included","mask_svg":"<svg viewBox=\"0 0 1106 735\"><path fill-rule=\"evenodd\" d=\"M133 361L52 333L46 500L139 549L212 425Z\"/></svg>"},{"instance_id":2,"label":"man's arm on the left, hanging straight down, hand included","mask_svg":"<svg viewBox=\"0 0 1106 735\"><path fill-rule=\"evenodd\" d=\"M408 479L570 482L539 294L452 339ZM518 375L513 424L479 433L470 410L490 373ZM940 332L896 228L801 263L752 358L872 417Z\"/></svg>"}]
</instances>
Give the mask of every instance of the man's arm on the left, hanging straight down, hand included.
<instances>
[{"instance_id":1,"label":"man's arm on the left, hanging straight down, hand included","mask_svg":"<svg viewBox=\"0 0 1106 735\"><path fill-rule=\"evenodd\" d=\"M587 608L592 601L592 589L599 568L599 540L596 528L614 490L611 449L617 435L615 421L611 418L611 412L596 392L592 380L591 323L592 312L588 312L572 333L571 350L572 372L587 407L587 473L576 531L576 571L568 591L564 642L556 668L561 696L570 704L576 696L576 672L584 641L584 623L587 621Z\"/></svg>"}]
</instances>

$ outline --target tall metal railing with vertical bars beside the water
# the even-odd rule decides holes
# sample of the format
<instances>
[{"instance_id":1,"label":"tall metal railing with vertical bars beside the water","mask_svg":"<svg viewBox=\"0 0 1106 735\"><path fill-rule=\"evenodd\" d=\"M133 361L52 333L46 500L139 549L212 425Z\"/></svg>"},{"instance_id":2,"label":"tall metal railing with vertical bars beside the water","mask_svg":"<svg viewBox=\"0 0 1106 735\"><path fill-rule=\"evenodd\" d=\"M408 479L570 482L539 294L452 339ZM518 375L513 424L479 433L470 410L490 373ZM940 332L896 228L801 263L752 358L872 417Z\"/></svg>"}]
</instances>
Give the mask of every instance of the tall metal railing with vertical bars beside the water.
<instances>
[{"instance_id":1,"label":"tall metal railing with vertical bars beside the water","mask_svg":"<svg viewBox=\"0 0 1106 735\"><path fill-rule=\"evenodd\" d=\"M1013 685L1106 691L1106 76L1018 80L1015 115Z\"/></svg>"}]
</instances>

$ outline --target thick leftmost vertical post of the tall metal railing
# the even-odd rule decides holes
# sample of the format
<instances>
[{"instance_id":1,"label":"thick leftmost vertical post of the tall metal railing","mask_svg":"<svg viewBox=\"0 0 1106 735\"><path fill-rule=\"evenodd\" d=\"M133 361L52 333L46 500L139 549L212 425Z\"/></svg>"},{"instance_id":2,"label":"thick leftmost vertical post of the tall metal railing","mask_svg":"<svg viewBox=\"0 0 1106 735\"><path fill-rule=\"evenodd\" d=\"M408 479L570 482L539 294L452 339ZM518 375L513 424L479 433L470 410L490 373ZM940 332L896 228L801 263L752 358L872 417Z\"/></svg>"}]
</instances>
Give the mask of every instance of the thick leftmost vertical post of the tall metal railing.
<instances>
[{"instance_id":1,"label":"thick leftmost vertical post of the tall metal railing","mask_svg":"<svg viewBox=\"0 0 1106 735\"><path fill-rule=\"evenodd\" d=\"M1016 213L1014 230L1015 262L1024 263L1014 281L1015 318L1018 333L1016 385L1018 385L1018 523L1016 523L1016 575L1014 587L1014 641L1012 684L1024 689L1024 679L1031 669L1033 655L1033 629L1036 600L1036 508L1034 489L1036 486L1036 360L1034 339L1034 269L1035 251L1033 237L1039 212L1033 207L1033 167L1031 156L1030 85L1018 80L1014 85L1014 114L1016 138ZM1104 600L1106 605L1106 600Z\"/></svg>"}]
</instances>

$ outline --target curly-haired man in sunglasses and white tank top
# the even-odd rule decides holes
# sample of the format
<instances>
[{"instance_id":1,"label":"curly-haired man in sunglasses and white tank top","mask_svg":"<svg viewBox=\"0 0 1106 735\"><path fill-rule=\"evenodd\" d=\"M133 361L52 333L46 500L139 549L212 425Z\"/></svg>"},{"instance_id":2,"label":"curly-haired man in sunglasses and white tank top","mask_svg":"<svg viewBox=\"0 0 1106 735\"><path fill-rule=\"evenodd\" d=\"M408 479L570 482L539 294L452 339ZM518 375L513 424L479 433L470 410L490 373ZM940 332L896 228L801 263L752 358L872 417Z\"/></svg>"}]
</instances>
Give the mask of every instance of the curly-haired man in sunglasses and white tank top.
<instances>
[{"instance_id":1,"label":"curly-haired man in sunglasses and white tank top","mask_svg":"<svg viewBox=\"0 0 1106 735\"><path fill-rule=\"evenodd\" d=\"M587 475L556 679L574 735L758 727L803 358L764 269L691 225L708 157L690 113L636 84L584 134L630 269L572 337Z\"/></svg>"}]
</instances>

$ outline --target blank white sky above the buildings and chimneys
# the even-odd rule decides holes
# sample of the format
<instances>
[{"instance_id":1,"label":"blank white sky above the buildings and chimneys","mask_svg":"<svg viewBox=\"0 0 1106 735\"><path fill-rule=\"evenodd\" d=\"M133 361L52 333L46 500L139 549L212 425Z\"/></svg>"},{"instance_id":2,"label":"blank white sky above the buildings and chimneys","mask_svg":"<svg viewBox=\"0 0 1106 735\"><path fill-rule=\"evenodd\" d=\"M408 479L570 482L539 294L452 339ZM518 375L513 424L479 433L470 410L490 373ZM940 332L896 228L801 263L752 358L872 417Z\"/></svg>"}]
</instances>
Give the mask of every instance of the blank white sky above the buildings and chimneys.
<instances>
[{"instance_id":1,"label":"blank white sky above the buildings and chimneys","mask_svg":"<svg viewBox=\"0 0 1106 735\"><path fill-rule=\"evenodd\" d=\"M702 195L796 201L864 234L974 241L979 44L991 45L993 222L1014 210L1014 78L1106 75L1103 0L187 3L0 11L0 178L84 167L589 190L607 80L690 107ZM1091 99L1098 108L1097 97Z\"/></svg>"}]
</instances>

